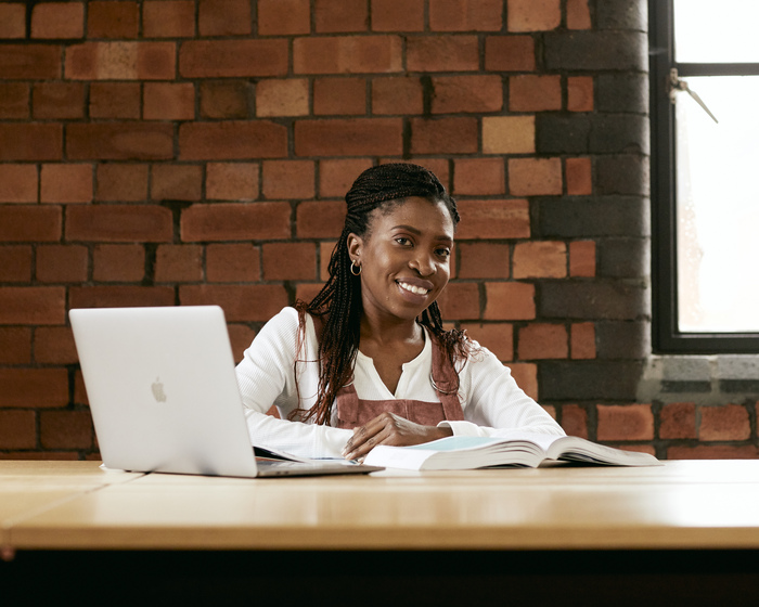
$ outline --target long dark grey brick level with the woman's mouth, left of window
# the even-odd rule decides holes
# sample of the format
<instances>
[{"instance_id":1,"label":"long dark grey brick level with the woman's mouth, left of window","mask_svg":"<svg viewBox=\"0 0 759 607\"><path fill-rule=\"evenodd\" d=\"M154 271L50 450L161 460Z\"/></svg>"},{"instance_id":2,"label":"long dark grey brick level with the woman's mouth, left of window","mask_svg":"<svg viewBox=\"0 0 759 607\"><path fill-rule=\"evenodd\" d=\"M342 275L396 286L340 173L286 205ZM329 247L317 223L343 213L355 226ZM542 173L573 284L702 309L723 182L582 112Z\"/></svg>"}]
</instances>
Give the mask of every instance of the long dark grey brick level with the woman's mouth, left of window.
<instances>
[{"instance_id":1,"label":"long dark grey brick level with the woman's mouth, left of window","mask_svg":"<svg viewBox=\"0 0 759 607\"><path fill-rule=\"evenodd\" d=\"M649 297L642 282L546 281L539 289L538 317L636 320L648 314Z\"/></svg>"}]
</instances>

